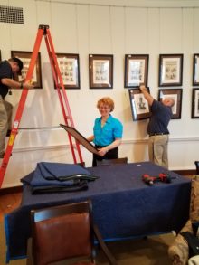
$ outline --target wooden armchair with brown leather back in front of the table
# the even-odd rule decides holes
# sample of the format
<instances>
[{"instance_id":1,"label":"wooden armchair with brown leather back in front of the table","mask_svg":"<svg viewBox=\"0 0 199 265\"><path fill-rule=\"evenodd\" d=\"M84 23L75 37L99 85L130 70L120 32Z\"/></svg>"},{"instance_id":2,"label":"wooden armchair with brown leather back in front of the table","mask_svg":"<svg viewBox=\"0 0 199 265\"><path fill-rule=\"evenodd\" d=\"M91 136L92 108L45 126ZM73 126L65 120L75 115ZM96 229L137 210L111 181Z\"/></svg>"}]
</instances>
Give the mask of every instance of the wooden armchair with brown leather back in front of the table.
<instances>
[{"instance_id":1,"label":"wooden armchair with brown leather back in front of the table","mask_svg":"<svg viewBox=\"0 0 199 265\"><path fill-rule=\"evenodd\" d=\"M79 260L73 265L96 264L94 239L99 242L109 264L117 264L92 222L90 201L31 211L31 224L32 238L28 240L26 264L47 265L76 257L84 257L84 263ZM85 258L90 261L85 262Z\"/></svg>"}]
</instances>

